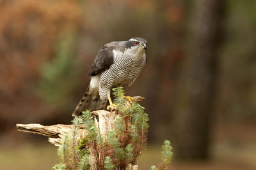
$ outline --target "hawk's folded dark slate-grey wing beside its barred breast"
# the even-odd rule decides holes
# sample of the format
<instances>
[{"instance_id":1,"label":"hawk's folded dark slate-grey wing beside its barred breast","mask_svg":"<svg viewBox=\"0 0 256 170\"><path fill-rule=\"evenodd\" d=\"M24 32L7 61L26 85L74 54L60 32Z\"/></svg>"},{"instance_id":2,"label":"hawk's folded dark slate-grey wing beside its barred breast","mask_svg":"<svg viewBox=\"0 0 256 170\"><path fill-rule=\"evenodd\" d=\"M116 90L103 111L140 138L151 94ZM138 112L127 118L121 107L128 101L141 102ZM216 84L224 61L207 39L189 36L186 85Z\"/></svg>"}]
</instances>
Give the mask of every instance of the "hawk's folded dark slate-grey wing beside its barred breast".
<instances>
[{"instance_id":1,"label":"hawk's folded dark slate-grey wing beside its barred breast","mask_svg":"<svg viewBox=\"0 0 256 170\"><path fill-rule=\"evenodd\" d=\"M113 49L115 48L116 48L116 45L113 42L103 45L102 48L100 48L99 52L97 53L93 61L92 67L90 67L89 69L90 76L95 76L99 74L105 69L108 69L108 67L113 64L114 62Z\"/></svg>"}]
</instances>

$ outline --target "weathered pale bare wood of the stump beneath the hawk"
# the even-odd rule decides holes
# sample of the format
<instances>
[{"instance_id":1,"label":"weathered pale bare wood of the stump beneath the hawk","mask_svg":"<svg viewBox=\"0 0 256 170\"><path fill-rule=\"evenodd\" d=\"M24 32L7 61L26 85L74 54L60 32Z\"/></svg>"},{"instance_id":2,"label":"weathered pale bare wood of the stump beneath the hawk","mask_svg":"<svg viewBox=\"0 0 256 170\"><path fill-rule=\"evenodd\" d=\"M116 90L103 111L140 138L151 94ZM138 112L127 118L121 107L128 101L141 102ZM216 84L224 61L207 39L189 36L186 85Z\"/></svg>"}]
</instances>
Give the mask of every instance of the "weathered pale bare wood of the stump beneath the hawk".
<instances>
[{"instance_id":1,"label":"weathered pale bare wood of the stump beneath the hawk","mask_svg":"<svg viewBox=\"0 0 256 170\"><path fill-rule=\"evenodd\" d=\"M136 96L133 97L134 102L140 102L143 101L144 97ZM131 104L127 102L127 106ZM91 112L93 115L93 119L95 122L95 125L98 127L100 135L103 139L107 138L108 132L110 130L114 129L114 122L115 118L118 115L116 111L106 111L106 110L97 110ZM131 123L131 122L128 122ZM63 125L63 124L57 124L57 125L49 125L44 126L40 124L17 124L16 125L18 131L21 132L30 132L35 134L40 134L43 136L48 136L48 141L52 143L55 146L60 146L60 138L61 136L65 136L68 132L71 131L71 129L74 127L74 125ZM83 139L88 134L88 131L84 129L83 125L77 126L77 138ZM129 131L129 129L126 129L126 131ZM97 170L97 157L99 153L97 151L93 150L93 148L90 148L90 169ZM129 170L137 170L138 165L129 164L125 169Z\"/></svg>"}]
</instances>

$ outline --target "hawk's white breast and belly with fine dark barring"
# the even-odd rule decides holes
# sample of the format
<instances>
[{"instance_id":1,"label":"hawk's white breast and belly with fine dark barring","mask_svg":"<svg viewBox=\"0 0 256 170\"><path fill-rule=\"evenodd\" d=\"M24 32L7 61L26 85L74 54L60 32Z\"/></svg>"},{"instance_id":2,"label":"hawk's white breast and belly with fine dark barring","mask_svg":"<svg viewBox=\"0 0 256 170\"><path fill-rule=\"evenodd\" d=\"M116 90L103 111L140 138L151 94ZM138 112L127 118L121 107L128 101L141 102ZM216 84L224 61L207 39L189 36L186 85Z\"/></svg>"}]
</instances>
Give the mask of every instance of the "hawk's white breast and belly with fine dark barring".
<instances>
[{"instance_id":1,"label":"hawk's white breast and belly with fine dark barring","mask_svg":"<svg viewBox=\"0 0 256 170\"><path fill-rule=\"evenodd\" d=\"M111 87L118 84L132 85L146 62L145 53L120 52L113 50L114 64L100 75L99 95L104 100L110 94Z\"/></svg>"}]
</instances>

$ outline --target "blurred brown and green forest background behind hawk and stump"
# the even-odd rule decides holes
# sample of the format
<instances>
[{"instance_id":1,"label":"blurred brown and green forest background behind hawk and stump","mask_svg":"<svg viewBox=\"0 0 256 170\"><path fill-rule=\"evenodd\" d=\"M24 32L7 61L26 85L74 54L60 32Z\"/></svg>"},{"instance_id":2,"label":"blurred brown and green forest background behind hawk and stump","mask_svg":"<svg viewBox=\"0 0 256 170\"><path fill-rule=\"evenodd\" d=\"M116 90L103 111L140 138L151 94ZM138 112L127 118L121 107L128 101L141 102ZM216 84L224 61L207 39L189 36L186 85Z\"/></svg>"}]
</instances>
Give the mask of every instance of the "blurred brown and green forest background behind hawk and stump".
<instances>
[{"instance_id":1,"label":"blurred brown and green forest background behind hawk and stump","mask_svg":"<svg viewBox=\"0 0 256 170\"><path fill-rule=\"evenodd\" d=\"M56 148L15 124L70 124L102 43L148 40L129 96L150 117L141 169L256 169L256 1L0 0L0 169L51 169ZM15 164L14 164L15 162Z\"/></svg>"}]
</instances>

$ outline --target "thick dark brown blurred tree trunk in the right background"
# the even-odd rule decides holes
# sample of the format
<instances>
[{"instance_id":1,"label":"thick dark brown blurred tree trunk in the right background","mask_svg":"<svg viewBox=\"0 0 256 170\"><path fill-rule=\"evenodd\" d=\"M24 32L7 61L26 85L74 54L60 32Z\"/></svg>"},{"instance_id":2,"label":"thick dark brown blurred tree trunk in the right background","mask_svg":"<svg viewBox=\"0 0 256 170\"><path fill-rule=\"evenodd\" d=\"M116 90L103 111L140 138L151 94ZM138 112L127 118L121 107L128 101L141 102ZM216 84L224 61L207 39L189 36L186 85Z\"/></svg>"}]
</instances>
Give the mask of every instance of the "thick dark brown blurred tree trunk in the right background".
<instances>
[{"instance_id":1,"label":"thick dark brown blurred tree trunk in the right background","mask_svg":"<svg viewBox=\"0 0 256 170\"><path fill-rule=\"evenodd\" d=\"M176 159L207 159L222 38L222 0L195 2L188 60L180 75L173 113Z\"/></svg>"}]
</instances>

